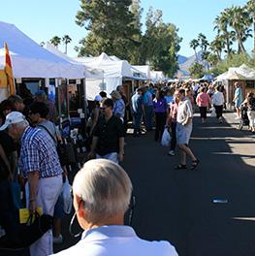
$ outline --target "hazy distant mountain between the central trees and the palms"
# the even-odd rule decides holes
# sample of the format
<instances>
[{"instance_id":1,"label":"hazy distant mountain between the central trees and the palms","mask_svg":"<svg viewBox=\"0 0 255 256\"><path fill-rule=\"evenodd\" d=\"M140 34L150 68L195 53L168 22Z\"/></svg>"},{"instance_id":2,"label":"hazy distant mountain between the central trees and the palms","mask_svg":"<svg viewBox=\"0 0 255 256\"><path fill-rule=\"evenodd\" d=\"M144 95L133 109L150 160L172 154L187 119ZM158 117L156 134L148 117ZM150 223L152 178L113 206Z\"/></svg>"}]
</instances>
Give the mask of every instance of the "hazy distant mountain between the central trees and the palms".
<instances>
[{"instance_id":1,"label":"hazy distant mountain between the central trees and the palms","mask_svg":"<svg viewBox=\"0 0 255 256\"><path fill-rule=\"evenodd\" d=\"M199 63L203 63L202 60L202 51L198 52L198 59L199 59ZM189 68L197 61L196 59L196 55L192 55L190 57L185 57L185 56L181 56L178 55L178 71L176 76L179 77L186 77L186 76L190 76L189 73Z\"/></svg>"}]
</instances>

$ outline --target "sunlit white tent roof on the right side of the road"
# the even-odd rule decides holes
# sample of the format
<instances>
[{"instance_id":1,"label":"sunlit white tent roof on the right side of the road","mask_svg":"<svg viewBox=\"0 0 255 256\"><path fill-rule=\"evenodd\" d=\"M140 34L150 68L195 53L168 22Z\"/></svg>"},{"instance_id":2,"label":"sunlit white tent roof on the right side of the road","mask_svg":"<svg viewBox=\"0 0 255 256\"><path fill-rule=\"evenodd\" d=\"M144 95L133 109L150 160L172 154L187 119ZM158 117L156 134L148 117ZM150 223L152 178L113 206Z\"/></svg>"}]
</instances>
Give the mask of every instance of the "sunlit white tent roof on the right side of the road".
<instances>
[{"instance_id":1,"label":"sunlit white tent roof on the right side of the road","mask_svg":"<svg viewBox=\"0 0 255 256\"><path fill-rule=\"evenodd\" d=\"M242 64L238 68L229 70L216 78L216 80L255 80L255 70Z\"/></svg>"}]
</instances>

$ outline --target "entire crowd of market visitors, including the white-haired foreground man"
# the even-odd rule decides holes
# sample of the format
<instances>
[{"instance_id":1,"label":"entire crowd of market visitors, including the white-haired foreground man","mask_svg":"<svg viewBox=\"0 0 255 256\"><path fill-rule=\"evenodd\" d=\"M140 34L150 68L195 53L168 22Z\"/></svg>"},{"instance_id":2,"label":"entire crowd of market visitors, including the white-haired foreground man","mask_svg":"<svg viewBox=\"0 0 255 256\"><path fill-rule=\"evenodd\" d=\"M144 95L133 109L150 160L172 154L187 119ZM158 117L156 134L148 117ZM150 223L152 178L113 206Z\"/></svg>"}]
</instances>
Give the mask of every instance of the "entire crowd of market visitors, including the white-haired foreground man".
<instances>
[{"instance_id":1,"label":"entire crowd of market visitors, including the white-haired foreground man","mask_svg":"<svg viewBox=\"0 0 255 256\"><path fill-rule=\"evenodd\" d=\"M240 118L240 109L245 105L250 130L255 132L254 95L248 93L243 101L239 83L235 85L233 101L237 115ZM169 242L141 240L134 230L123 226L132 184L119 163L124 160L124 138L130 128L130 116L135 138L154 131L155 142L161 142L164 130L168 129L172 137L168 154L175 156L176 145L179 148L180 161L175 169L195 170L200 160L189 146L195 108L199 109L202 123L207 122L207 111L211 108L221 123L225 98L224 86L207 82L151 83L137 87L130 99L122 85L118 85L109 98L106 92L100 92L94 99L85 127L87 163L73 184L75 214L85 231L77 245L59 255L76 255L83 250L87 255L101 255L102 247L95 244L104 238L102 242L108 255L131 255L137 250L142 255L177 255ZM49 230L31 244L32 256L52 254L53 239L62 240L61 188L67 178L67 169L57 151L57 145L63 143L61 133L48 119L48 112L47 97L42 91L29 104L24 104L17 95L11 95L0 104L0 200L1 188L9 184L16 208L20 207L20 194L11 185L18 182L25 194L23 201L31 213L41 207L44 213L54 216L54 236ZM187 156L191 159L189 167ZM94 158L97 160L91 160ZM8 224L13 221L7 214L10 210L8 204L0 202L0 229L6 234L15 232L14 225L10 228ZM118 242L123 236L124 245ZM87 242L90 237L95 242ZM95 252L98 254L93 254Z\"/></svg>"}]
</instances>

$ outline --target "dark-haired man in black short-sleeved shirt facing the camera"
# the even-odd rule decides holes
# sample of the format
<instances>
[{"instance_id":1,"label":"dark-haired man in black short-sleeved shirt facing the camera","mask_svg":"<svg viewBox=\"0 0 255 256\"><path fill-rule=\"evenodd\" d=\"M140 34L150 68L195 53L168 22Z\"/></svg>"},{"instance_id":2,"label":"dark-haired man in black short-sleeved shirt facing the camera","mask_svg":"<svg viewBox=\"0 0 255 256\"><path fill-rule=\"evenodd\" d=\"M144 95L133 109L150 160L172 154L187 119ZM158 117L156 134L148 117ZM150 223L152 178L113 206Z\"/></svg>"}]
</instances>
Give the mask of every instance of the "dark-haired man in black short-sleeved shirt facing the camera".
<instances>
[{"instance_id":1,"label":"dark-haired man in black short-sleeved shirt facing the camera","mask_svg":"<svg viewBox=\"0 0 255 256\"><path fill-rule=\"evenodd\" d=\"M98 120L95 127L89 158L110 159L115 163L123 161L124 158L124 126L117 116L112 114L112 99L102 102L104 115Z\"/></svg>"}]
</instances>

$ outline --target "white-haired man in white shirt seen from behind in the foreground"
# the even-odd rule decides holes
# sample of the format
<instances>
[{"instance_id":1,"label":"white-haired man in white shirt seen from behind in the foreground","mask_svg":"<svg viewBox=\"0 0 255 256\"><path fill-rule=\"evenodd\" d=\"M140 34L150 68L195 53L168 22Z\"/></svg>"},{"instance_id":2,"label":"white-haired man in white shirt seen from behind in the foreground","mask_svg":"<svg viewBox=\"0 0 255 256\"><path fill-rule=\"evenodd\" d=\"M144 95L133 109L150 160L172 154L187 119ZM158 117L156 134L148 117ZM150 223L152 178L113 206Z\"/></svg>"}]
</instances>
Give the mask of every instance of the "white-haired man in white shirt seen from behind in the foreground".
<instances>
[{"instance_id":1,"label":"white-haired man in white shirt seen from behind in the foreground","mask_svg":"<svg viewBox=\"0 0 255 256\"><path fill-rule=\"evenodd\" d=\"M75 215L84 232L76 245L56 256L177 255L170 242L142 240L123 225L132 183L119 165L106 159L86 162L75 177L73 192Z\"/></svg>"}]
</instances>

